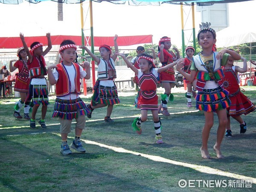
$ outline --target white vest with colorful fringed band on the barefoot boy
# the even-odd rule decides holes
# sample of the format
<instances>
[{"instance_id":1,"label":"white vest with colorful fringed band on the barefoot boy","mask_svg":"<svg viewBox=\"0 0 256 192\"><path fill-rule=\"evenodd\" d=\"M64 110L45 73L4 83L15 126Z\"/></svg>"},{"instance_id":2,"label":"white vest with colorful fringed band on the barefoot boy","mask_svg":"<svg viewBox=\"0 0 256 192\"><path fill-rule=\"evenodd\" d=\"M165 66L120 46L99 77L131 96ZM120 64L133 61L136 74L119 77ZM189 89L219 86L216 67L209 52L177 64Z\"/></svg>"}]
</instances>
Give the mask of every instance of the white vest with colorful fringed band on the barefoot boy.
<instances>
[{"instance_id":1,"label":"white vest with colorful fringed band on the barefoot boy","mask_svg":"<svg viewBox=\"0 0 256 192\"><path fill-rule=\"evenodd\" d=\"M221 69L221 60L216 59L216 55L218 54L218 52L213 52L213 71L207 70L199 54L193 57L195 67L198 69L198 80L196 83L197 90L202 91L204 89L206 81L215 81L219 84L219 86L221 86L221 88L223 88L222 79L224 77L224 73Z\"/></svg>"}]
</instances>

